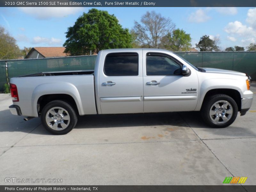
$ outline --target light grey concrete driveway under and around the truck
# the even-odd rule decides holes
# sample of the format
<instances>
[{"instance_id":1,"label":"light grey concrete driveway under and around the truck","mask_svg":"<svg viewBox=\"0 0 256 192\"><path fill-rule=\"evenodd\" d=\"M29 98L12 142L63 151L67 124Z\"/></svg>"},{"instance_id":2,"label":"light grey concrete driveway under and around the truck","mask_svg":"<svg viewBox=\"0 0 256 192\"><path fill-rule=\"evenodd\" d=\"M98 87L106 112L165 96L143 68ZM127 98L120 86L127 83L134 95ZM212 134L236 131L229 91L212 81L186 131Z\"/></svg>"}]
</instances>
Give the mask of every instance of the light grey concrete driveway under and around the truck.
<instances>
[{"instance_id":1,"label":"light grey concrete driveway under and around the truck","mask_svg":"<svg viewBox=\"0 0 256 192\"><path fill-rule=\"evenodd\" d=\"M49 134L39 118L11 115L11 104L0 95L0 185L29 184L7 177L62 179L33 183L40 185L222 185L248 177L244 191L255 184L255 99L223 129L207 127L199 112L90 115L67 135Z\"/></svg>"}]
</instances>

